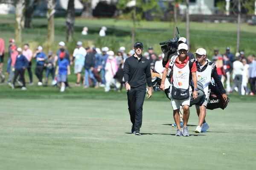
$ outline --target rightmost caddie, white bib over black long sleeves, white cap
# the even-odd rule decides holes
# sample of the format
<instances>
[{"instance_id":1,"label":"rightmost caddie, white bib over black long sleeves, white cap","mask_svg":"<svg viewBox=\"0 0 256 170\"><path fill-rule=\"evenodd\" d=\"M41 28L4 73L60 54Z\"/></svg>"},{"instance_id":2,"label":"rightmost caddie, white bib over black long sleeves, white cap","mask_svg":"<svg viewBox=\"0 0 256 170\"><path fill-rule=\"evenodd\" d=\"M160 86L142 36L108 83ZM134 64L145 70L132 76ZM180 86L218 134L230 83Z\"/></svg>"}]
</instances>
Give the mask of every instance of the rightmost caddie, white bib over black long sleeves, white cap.
<instances>
[{"instance_id":1,"label":"rightmost caddie, white bib over black long sleeves, white cap","mask_svg":"<svg viewBox=\"0 0 256 170\"><path fill-rule=\"evenodd\" d=\"M203 102L203 104L195 105L196 112L199 117L198 126L195 129L195 133L201 133L201 132L207 132L207 129L209 128L209 125L207 122L205 122L205 116L206 116L206 108L207 103L209 99L209 83L211 82L211 79L213 78L215 80L216 85L221 91L223 99L227 100L226 91L221 83L221 79L218 77L218 73L216 70L216 66L213 62L207 61L207 54L206 50L204 48L198 48L196 52L196 77L197 81L201 82L204 86L204 94L206 95L206 98Z\"/></svg>"}]
</instances>

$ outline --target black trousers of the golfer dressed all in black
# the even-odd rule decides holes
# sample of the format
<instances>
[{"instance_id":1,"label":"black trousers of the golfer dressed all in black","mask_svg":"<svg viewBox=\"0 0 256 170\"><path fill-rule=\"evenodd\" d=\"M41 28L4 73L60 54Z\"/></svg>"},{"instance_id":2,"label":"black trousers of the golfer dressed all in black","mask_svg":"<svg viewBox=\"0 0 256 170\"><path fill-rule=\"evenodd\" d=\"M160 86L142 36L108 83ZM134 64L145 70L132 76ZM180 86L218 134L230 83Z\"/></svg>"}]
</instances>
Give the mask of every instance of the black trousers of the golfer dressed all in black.
<instances>
[{"instance_id":1,"label":"black trousers of the golfer dressed all in black","mask_svg":"<svg viewBox=\"0 0 256 170\"><path fill-rule=\"evenodd\" d=\"M142 110L146 95L146 86L131 88L127 91L128 110L134 130L140 130L142 125Z\"/></svg>"}]
</instances>

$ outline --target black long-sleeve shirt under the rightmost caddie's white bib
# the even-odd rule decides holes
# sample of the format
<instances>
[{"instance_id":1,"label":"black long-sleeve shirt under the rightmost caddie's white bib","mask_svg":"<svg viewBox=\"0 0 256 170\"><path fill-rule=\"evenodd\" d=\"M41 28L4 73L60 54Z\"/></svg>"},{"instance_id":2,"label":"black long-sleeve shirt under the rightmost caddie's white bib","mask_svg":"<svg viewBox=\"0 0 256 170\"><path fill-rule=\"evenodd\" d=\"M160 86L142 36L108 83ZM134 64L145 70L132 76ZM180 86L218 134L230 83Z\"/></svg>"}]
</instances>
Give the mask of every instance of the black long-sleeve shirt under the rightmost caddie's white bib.
<instances>
[{"instance_id":1,"label":"black long-sleeve shirt under the rightmost caddie's white bib","mask_svg":"<svg viewBox=\"0 0 256 170\"><path fill-rule=\"evenodd\" d=\"M198 65L198 62L196 61L196 66L197 66L198 72L204 71L207 67L209 67L208 65L210 65L212 67L211 77L214 79L216 85L220 89L221 94L226 94L226 91L225 91L225 89L222 85L221 79L218 76L218 73L217 73L217 70L216 70L216 65L213 62L209 62L209 63L205 64L203 68L200 68L200 65Z\"/></svg>"}]
</instances>

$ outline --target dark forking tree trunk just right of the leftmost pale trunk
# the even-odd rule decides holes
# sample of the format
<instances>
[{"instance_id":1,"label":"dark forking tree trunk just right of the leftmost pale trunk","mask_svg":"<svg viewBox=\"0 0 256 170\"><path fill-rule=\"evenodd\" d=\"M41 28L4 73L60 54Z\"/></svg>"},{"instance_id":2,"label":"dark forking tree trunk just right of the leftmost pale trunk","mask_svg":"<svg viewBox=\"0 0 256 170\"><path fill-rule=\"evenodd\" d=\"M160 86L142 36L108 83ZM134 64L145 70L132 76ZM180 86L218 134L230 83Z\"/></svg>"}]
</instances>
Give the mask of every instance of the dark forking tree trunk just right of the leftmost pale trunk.
<instances>
[{"instance_id":1,"label":"dark forking tree trunk just right of the leftmost pale trunk","mask_svg":"<svg viewBox=\"0 0 256 170\"><path fill-rule=\"evenodd\" d=\"M32 28L33 12L40 2L41 0L33 0L32 3L29 0L25 1L25 28Z\"/></svg>"}]
</instances>

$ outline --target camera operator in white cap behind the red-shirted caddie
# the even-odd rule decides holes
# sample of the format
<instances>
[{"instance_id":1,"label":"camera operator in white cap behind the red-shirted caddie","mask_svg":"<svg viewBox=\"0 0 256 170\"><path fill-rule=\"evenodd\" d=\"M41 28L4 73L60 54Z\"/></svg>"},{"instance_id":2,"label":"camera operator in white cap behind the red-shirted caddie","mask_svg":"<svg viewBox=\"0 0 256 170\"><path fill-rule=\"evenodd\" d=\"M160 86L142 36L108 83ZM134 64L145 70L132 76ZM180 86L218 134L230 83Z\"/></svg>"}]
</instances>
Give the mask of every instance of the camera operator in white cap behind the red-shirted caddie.
<instances>
[{"instance_id":1,"label":"camera operator in white cap behind the red-shirted caddie","mask_svg":"<svg viewBox=\"0 0 256 170\"><path fill-rule=\"evenodd\" d=\"M175 39L175 38L174 38L174 39ZM174 39L172 39L172 40L174 40ZM180 38L179 38L179 40L178 40L178 45L180 45L181 43L185 43L185 44L187 43L185 37L180 37ZM178 46L178 45L177 45L177 46ZM162 46L162 47L163 47L163 46ZM164 50L164 51L163 51L163 50ZM162 51L163 51L163 53L165 54L165 55L164 55L164 58L163 58L163 62L162 62L163 67L166 66L168 60L169 60L170 58L172 58L172 56L177 56L177 55L179 55L177 50L176 50L176 51L170 51L170 50L168 50L167 52L166 52L165 50L166 50L166 49L163 49L163 48L162 48ZM166 55L166 54L167 54L167 55ZM193 54L192 52L190 52L190 51L187 53L187 56L189 56L189 59L195 59L194 54Z\"/></svg>"}]
</instances>

